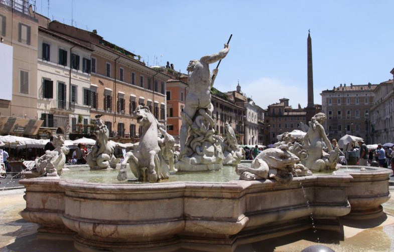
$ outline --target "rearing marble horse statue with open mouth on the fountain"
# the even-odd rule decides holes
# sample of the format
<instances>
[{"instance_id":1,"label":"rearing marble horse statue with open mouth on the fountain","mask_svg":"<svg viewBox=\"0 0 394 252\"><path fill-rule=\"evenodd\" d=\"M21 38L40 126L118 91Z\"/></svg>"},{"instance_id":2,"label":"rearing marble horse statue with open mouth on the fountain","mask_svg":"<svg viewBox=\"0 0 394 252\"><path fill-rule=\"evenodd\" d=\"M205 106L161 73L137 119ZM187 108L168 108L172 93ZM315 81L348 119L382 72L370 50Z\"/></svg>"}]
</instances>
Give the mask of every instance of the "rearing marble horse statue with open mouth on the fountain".
<instances>
[{"instance_id":1,"label":"rearing marble horse statue with open mouth on the fountain","mask_svg":"<svg viewBox=\"0 0 394 252\"><path fill-rule=\"evenodd\" d=\"M172 155L173 157L173 153L171 153L172 146L170 150L166 150L165 145L167 143L173 145L175 143L174 138L163 129L164 126L159 124L155 116L149 111L149 107L137 106L133 116L144 128L144 132L141 135L138 147L126 153L120 165L117 179L121 181L127 178L127 163L129 163L130 169L138 181L157 182L169 178L170 171L168 164L165 162L165 156L169 158L169 155ZM158 139L159 133L164 135L163 142L160 138ZM160 144L164 146L164 152L162 152Z\"/></svg>"}]
</instances>

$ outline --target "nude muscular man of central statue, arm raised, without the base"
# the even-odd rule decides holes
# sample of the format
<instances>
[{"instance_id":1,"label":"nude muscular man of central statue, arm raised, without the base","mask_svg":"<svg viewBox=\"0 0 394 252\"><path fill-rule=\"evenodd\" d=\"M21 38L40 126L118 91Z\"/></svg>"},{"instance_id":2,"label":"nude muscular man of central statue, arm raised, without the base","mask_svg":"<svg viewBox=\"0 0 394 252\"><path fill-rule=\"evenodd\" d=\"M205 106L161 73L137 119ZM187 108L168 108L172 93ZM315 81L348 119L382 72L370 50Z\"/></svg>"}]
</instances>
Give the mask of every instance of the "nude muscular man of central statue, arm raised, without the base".
<instances>
[{"instance_id":1,"label":"nude muscular man of central statue, arm raised, without the base","mask_svg":"<svg viewBox=\"0 0 394 252\"><path fill-rule=\"evenodd\" d=\"M217 62L228 53L228 44L224 44L224 49L219 53L202 57L200 60L189 62L187 71L189 75L189 92L186 96L185 108L182 114L182 127L180 132L181 153L185 150L185 144L188 137L189 123L188 119L193 120L198 109L207 109L207 113L212 117L213 105L211 103L211 88L217 76L218 69L209 71L209 64ZM187 118L187 117L188 118ZM213 127L213 125L211 125Z\"/></svg>"}]
</instances>

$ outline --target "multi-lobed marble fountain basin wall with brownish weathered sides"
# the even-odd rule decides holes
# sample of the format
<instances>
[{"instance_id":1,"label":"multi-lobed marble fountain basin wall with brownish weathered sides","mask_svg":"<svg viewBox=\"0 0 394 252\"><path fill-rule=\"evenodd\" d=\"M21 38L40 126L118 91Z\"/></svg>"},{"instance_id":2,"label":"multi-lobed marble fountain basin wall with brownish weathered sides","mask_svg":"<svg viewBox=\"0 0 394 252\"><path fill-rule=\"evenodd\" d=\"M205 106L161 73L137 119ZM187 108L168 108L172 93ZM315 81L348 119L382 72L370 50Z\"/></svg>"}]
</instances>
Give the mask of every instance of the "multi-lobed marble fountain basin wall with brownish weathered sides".
<instances>
[{"instance_id":1,"label":"multi-lobed marble fountain basin wall with brownish weathered sides","mask_svg":"<svg viewBox=\"0 0 394 252\"><path fill-rule=\"evenodd\" d=\"M41 224L40 232L73 235L81 251L233 251L238 244L310 228L340 232L340 217L380 216L390 197L390 170L360 168L295 177L289 185L23 179L21 215Z\"/></svg>"}]
</instances>

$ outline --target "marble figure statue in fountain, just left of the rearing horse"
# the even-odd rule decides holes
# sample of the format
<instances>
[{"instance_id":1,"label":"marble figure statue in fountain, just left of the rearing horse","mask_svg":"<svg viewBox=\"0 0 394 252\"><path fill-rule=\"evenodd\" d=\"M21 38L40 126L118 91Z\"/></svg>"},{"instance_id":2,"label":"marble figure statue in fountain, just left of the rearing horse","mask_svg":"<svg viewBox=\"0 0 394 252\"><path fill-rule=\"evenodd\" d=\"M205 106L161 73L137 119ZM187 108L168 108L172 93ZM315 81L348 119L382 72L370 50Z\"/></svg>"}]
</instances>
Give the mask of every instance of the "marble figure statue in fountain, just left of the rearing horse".
<instances>
[{"instance_id":1,"label":"marble figure statue in fountain, just left of the rearing horse","mask_svg":"<svg viewBox=\"0 0 394 252\"><path fill-rule=\"evenodd\" d=\"M102 115L96 115L96 142L92 147L92 151L87 155L86 162L90 169L100 170L106 169L108 166L116 168L119 159L113 155L114 149L108 142L109 130L107 126L100 119Z\"/></svg>"}]
</instances>

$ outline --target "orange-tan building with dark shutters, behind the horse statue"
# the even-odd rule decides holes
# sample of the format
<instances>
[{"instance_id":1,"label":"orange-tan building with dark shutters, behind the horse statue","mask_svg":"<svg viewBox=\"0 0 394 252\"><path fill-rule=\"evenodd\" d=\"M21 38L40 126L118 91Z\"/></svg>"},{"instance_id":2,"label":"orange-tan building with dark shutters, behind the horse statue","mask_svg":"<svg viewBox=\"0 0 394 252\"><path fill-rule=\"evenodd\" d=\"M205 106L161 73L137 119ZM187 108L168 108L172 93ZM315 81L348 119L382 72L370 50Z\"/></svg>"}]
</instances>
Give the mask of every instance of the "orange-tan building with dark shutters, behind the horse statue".
<instances>
[{"instance_id":1,"label":"orange-tan building with dark shutters, behind the horse statue","mask_svg":"<svg viewBox=\"0 0 394 252\"><path fill-rule=\"evenodd\" d=\"M110 138L121 142L139 140L144 129L132 117L138 105L148 106L159 122L166 124L165 82L169 76L147 67L137 55L105 41L95 31L56 21L48 29L93 50L86 63L90 68L90 88L84 93L84 100L90 107L91 119L102 115Z\"/></svg>"}]
</instances>

